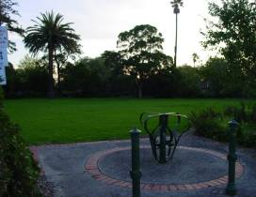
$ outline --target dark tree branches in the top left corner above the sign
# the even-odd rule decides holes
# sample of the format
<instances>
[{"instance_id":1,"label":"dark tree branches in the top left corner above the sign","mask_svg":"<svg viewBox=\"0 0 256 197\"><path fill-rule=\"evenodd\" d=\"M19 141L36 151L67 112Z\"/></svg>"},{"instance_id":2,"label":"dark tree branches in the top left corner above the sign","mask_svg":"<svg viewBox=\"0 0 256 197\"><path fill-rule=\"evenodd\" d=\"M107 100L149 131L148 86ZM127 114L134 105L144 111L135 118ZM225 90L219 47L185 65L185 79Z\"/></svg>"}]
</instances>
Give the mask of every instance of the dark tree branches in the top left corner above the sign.
<instances>
[{"instance_id":1,"label":"dark tree branches in the top left corner above the sign","mask_svg":"<svg viewBox=\"0 0 256 197\"><path fill-rule=\"evenodd\" d=\"M8 31L15 32L22 36L24 34L24 29L19 25L19 23L13 19L13 16L20 16L19 12L14 8L18 6L18 3L13 0L1 0L0 1L0 26L6 25ZM13 41L9 40L9 50L10 52L16 51L16 45Z\"/></svg>"}]
</instances>

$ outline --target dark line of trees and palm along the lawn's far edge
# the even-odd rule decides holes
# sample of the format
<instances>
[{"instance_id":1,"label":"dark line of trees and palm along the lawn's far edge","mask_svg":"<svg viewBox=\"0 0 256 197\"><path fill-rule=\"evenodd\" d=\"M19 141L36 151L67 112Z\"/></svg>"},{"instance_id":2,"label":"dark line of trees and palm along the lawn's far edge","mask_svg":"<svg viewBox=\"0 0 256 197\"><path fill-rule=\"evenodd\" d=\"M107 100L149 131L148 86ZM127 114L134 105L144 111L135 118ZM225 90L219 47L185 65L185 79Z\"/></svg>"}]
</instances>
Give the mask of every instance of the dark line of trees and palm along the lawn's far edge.
<instances>
[{"instance_id":1,"label":"dark line of trees and palm along the lawn's far edge","mask_svg":"<svg viewBox=\"0 0 256 197\"><path fill-rule=\"evenodd\" d=\"M173 1L180 2L180 1ZM0 23L23 34L9 13L16 3L0 3ZM104 52L97 58L80 58L79 36L63 23L61 14L41 14L24 34L31 53L44 53L40 60L24 61L23 67L8 68L8 97L236 97L256 95L256 4L253 0L221 0L209 3L203 46L218 50L195 68L175 67L163 53L164 38L150 24L136 25L121 32L117 52ZM47 79L47 82L45 81ZM56 91L57 90L57 91Z\"/></svg>"}]
</instances>

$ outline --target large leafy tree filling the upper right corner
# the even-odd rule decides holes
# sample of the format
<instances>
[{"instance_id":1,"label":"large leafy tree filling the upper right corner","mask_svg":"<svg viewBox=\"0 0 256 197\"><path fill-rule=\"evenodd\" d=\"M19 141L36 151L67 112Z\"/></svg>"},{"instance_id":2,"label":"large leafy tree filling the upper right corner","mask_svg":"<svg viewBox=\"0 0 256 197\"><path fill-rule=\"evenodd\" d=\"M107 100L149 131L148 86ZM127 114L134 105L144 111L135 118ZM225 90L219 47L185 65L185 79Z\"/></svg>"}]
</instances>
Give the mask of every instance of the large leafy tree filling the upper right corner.
<instances>
[{"instance_id":1,"label":"large leafy tree filling the upper right corner","mask_svg":"<svg viewBox=\"0 0 256 197\"><path fill-rule=\"evenodd\" d=\"M256 89L256 3L254 0L221 0L209 4L204 47L216 48L228 61L233 89L255 96ZM241 88L236 87L236 84Z\"/></svg>"}]
</instances>

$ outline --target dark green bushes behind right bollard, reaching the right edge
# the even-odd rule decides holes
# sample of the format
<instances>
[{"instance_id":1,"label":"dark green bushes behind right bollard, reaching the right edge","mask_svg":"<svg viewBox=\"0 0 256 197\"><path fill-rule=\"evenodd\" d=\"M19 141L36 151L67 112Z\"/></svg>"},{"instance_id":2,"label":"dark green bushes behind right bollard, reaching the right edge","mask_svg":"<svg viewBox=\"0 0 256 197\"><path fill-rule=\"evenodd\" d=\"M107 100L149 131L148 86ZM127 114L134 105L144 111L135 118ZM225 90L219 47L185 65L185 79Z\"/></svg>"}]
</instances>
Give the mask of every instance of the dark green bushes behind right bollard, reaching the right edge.
<instances>
[{"instance_id":1,"label":"dark green bushes behind right bollard, reaching the right edge","mask_svg":"<svg viewBox=\"0 0 256 197\"><path fill-rule=\"evenodd\" d=\"M192 112L190 119L195 134L218 141L228 141L228 120L239 122L237 143L256 148L256 104L241 102L240 106L227 106L223 113L206 108L198 113Z\"/></svg>"}]
</instances>

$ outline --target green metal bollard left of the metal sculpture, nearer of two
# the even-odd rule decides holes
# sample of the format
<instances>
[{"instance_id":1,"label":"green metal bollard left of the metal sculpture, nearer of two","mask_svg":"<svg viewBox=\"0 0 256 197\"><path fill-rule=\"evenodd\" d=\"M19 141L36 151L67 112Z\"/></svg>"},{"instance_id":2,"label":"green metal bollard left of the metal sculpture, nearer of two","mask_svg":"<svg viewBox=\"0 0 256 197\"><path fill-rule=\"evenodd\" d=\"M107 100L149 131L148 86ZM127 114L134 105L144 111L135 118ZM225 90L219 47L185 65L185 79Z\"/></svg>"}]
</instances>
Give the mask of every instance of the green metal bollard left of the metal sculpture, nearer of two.
<instances>
[{"instance_id":1,"label":"green metal bollard left of the metal sculpture, nearer of two","mask_svg":"<svg viewBox=\"0 0 256 197\"><path fill-rule=\"evenodd\" d=\"M133 179L133 197L140 197L140 158L139 158L139 133L138 129L130 130L132 142L132 171L130 175Z\"/></svg>"}]
</instances>

